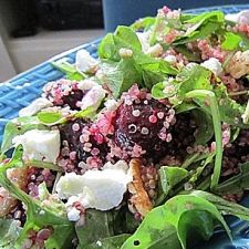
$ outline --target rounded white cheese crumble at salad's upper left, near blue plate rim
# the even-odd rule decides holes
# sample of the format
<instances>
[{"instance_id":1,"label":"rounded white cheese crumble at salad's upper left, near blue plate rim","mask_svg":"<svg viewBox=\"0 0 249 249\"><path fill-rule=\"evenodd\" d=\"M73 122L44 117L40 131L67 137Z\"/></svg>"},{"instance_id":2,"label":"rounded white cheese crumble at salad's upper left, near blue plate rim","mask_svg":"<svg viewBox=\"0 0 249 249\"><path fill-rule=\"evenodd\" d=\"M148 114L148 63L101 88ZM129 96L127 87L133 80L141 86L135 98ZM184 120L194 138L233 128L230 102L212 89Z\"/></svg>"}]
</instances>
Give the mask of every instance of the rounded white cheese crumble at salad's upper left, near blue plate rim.
<instances>
[{"instance_id":1,"label":"rounded white cheese crumble at salad's upper left, near blue plate rim","mask_svg":"<svg viewBox=\"0 0 249 249\"><path fill-rule=\"evenodd\" d=\"M79 50L76 52L75 66L81 72L92 72L96 69L98 61L91 56L89 51Z\"/></svg>"}]
</instances>

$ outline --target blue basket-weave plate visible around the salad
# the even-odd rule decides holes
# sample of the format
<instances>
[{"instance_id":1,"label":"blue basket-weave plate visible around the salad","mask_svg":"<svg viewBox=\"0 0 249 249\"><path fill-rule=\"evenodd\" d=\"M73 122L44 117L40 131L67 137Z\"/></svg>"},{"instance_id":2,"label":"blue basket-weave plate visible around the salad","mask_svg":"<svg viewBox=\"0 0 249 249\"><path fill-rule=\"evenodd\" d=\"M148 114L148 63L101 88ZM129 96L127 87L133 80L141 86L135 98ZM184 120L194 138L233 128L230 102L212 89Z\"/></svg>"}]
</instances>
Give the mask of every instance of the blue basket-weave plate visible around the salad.
<instances>
[{"instance_id":1,"label":"blue basket-weave plate visible around the salad","mask_svg":"<svg viewBox=\"0 0 249 249\"><path fill-rule=\"evenodd\" d=\"M200 13L212 10L221 10L225 13L235 13L249 9L249 4L221 6L211 8L198 8L187 10L190 13ZM8 120L17 117L19 110L29 105L33 100L42 93L43 85L49 81L55 81L64 76L64 74L53 66L52 61L68 58L69 62L74 63L77 50L86 49L94 58L97 56L97 44L100 40L77 46L64 53L61 53L51 60L24 72L10 81L0 84L0 143L2 139L3 128ZM249 195L243 199L242 205L249 207ZM249 249L249 222L238 219L229 219L232 229L234 246L222 232L214 235L212 239L207 243L201 243L195 249Z\"/></svg>"}]
</instances>

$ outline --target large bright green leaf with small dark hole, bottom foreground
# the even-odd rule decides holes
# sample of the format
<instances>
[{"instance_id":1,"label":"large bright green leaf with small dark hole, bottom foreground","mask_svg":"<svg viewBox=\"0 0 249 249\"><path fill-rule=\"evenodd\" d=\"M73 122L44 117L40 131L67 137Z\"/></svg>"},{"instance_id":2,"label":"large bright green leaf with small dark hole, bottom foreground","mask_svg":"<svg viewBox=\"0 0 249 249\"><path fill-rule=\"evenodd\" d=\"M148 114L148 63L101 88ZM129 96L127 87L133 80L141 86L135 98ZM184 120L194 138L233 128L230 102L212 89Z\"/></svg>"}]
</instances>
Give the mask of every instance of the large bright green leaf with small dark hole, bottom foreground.
<instances>
[{"instance_id":1,"label":"large bright green leaf with small dark hole, bottom foreground","mask_svg":"<svg viewBox=\"0 0 249 249\"><path fill-rule=\"evenodd\" d=\"M154 208L144 218L136 232L124 242L122 249L159 248L158 245L160 248L181 246L186 249L189 226L194 228L196 235L208 239L212 235L212 220L222 225L230 237L230 230L215 205L194 195L175 196L165 205Z\"/></svg>"}]
</instances>

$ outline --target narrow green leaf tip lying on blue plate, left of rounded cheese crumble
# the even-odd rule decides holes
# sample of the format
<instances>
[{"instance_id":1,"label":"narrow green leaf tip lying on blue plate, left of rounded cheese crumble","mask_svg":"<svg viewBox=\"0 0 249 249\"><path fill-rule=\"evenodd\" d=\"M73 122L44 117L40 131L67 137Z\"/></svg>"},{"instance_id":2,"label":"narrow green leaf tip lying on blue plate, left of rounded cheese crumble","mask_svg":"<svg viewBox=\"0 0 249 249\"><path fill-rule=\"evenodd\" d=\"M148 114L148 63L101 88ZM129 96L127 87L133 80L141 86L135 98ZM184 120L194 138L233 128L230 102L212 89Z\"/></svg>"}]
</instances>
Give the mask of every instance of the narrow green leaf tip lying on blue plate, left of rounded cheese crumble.
<instances>
[{"instance_id":1,"label":"narrow green leaf tip lying on blue plate, left of rounded cheese crumble","mask_svg":"<svg viewBox=\"0 0 249 249\"><path fill-rule=\"evenodd\" d=\"M54 62L51 62L51 64L62 71L63 73L66 74L66 79L72 80L72 81L81 81L86 77L86 75L82 72L79 72L73 64L70 64L66 59L61 59Z\"/></svg>"}]
</instances>

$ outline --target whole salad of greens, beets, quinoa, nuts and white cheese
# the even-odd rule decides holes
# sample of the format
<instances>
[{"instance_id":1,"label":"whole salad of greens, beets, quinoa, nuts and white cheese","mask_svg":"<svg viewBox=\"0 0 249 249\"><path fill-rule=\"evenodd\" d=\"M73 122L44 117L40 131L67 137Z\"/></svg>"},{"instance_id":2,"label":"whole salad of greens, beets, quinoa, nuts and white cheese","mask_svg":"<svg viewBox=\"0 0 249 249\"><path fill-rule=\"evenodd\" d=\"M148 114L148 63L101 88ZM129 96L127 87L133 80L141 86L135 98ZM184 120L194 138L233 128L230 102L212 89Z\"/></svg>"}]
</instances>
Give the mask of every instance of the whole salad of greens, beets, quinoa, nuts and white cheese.
<instances>
[{"instance_id":1,"label":"whole salad of greens, beets, quinoa, nuts and white cheese","mask_svg":"<svg viewBox=\"0 0 249 249\"><path fill-rule=\"evenodd\" d=\"M0 248L186 249L249 220L249 12L117 27L4 129Z\"/></svg>"}]
</instances>

